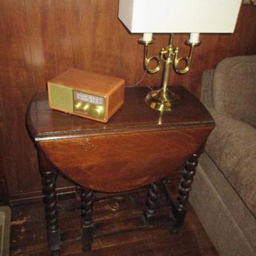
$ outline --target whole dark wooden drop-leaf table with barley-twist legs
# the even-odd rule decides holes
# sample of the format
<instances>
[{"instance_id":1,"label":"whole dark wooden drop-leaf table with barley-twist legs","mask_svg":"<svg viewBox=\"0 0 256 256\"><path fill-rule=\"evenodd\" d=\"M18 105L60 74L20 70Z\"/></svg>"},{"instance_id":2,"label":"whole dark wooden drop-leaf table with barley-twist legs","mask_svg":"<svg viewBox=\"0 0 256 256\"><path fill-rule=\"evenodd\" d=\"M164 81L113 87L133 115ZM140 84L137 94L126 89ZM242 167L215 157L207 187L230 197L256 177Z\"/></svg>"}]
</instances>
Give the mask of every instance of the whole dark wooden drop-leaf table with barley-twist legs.
<instances>
[{"instance_id":1,"label":"whole dark wooden drop-leaf table with barley-twist legs","mask_svg":"<svg viewBox=\"0 0 256 256\"><path fill-rule=\"evenodd\" d=\"M172 86L180 105L164 113L145 104L148 90L126 88L124 106L107 124L50 109L46 93L36 93L31 100L26 123L38 149L52 255L60 253L55 191L58 172L81 186L84 251L92 246L93 191L113 193L149 185L143 216L150 220L159 196L156 182L184 165L177 200L163 182L175 226L182 225L197 159L214 122L182 86Z\"/></svg>"}]
</instances>

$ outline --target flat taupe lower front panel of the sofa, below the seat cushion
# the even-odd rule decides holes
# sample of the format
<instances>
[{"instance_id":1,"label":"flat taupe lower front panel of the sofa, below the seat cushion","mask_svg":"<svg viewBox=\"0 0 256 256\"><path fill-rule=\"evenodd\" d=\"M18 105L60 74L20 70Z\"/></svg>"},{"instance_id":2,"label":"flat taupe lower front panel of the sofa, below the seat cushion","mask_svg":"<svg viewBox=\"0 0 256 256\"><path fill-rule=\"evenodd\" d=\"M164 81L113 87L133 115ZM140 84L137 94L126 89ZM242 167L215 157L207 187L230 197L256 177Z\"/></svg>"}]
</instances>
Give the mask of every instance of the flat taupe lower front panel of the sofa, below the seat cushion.
<instances>
[{"instance_id":1,"label":"flat taupe lower front panel of the sofa, below the seat cushion","mask_svg":"<svg viewBox=\"0 0 256 256\"><path fill-rule=\"evenodd\" d=\"M220 256L256 255L256 220L207 153L196 170L189 202Z\"/></svg>"}]
</instances>

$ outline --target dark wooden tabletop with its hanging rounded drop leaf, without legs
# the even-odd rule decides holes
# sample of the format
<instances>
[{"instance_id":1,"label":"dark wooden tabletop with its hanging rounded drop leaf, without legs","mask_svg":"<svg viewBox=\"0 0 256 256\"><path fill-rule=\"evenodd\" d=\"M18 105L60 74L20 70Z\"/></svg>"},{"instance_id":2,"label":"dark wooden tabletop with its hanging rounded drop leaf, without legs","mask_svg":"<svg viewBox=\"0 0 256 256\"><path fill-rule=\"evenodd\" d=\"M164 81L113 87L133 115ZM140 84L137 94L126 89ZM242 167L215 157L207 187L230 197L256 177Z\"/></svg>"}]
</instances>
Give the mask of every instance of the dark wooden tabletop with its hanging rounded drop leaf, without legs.
<instances>
[{"instance_id":1,"label":"dark wooden tabletop with its hanging rounded drop leaf, without legs","mask_svg":"<svg viewBox=\"0 0 256 256\"><path fill-rule=\"evenodd\" d=\"M214 127L204 106L182 86L172 112L148 108L148 88L125 88L124 106L102 124L49 108L46 93L31 100L26 124L36 147L73 182L117 192L155 182L180 168Z\"/></svg>"}]
</instances>

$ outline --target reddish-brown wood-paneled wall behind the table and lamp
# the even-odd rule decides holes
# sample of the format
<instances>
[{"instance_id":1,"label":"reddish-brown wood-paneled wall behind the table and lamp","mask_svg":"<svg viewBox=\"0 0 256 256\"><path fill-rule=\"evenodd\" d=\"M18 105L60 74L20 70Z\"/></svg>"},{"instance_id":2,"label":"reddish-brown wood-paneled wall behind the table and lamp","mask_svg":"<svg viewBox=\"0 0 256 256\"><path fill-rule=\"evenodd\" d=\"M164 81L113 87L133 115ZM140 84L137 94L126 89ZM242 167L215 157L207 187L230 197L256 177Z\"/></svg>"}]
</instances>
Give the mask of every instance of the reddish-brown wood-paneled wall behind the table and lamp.
<instances>
[{"instance_id":1,"label":"reddish-brown wood-paneled wall behind the table and lamp","mask_svg":"<svg viewBox=\"0 0 256 256\"><path fill-rule=\"evenodd\" d=\"M70 67L123 77L127 86L143 76L139 35L129 35L117 19L117 8L118 0L0 1L0 172L11 199L40 193L36 150L24 122L33 93L46 90L47 80ZM227 56L256 54L255 14L256 8L243 5L234 34L202 35L191 70L183 76L172 72L170 83L199 96L203 70ZM184 55L187 37L174 39ZM168 43L166 35L155 38L151 54ZM140 86L156 86L160 80L160 73L146 74Z\"/></svg>"}]
</instances>

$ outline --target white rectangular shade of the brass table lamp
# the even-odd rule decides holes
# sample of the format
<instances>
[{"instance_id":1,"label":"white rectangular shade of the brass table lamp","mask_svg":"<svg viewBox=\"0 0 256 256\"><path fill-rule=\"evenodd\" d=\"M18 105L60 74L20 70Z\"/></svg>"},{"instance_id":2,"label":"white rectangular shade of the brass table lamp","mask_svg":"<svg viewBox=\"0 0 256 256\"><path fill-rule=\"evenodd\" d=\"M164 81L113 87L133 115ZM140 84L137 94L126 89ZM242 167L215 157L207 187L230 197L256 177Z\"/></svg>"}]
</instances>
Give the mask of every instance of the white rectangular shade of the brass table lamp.
<instances>
[{"instance_id":1,"label":"white rectangular shade of the brass table lamp","mask_svg":"<svg viewBox=\"0 0 256 256\"><path fill-rule=\"evenodd\" d=\"M119 0L132 33L232 33L241 0Z\"/></svg>"}]
</instances>

